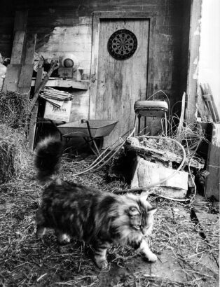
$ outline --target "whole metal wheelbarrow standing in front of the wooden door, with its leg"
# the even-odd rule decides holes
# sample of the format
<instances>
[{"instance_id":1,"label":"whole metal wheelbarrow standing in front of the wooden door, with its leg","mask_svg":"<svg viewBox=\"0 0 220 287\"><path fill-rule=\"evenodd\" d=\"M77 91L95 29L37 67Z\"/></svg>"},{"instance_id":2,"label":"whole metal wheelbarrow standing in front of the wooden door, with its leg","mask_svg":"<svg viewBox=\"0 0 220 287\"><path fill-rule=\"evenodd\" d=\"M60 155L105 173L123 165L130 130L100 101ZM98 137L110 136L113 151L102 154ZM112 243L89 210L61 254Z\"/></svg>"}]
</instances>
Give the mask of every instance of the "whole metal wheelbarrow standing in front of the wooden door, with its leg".
<instances>
[{"instance_id":1,"label":"whole metal wheelbarrow standing in front of the wooden door, with its leg","mask_svg":"<svg viewBox=\"0 0 220 287\"><path fill-rule=\"evenodd\" d=\"M97 147L95 139L103 139L108 136L118 123L118 120L76 120L75 122L66 123L64 125L57 125L57 129L62 134L62 137L69 141L73 137L82 137L90 146L95 155L99 155L99 148ZM90 145L92 142L92 148Z\"/></svg>"}]
</instances>

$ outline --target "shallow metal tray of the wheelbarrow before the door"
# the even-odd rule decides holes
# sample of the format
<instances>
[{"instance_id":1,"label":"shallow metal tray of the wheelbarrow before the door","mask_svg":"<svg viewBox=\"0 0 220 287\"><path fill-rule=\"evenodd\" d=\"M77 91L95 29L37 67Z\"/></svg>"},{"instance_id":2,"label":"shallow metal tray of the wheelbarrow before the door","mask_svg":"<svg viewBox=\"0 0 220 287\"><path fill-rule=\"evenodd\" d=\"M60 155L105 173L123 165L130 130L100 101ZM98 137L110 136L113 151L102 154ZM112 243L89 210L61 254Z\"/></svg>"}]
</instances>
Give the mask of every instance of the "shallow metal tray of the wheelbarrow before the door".
<instances>
[{"instance_id":1,"label":"shallow metal tray of the wheelbarrow before the door","mask_svg":"<svg viewBox=\"0 0 220 287\"><path fill-rule=\"evenodd\" d=\"M116 123L117 120L89 120L91 136L93 138L108 136ZM81 120L58 125L57 129L64 137L90 137L87 124L81 123Z\"/></svg>"}]
</instances>

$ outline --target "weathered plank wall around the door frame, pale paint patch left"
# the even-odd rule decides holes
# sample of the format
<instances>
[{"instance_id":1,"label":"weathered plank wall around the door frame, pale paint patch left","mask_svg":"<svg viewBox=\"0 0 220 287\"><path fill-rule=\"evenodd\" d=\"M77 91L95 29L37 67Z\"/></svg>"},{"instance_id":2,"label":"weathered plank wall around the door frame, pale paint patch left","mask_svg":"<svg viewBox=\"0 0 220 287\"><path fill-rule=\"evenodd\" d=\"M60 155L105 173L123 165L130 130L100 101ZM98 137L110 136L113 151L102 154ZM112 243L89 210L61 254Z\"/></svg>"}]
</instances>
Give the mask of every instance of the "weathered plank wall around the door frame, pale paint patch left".
<instances>
[{"instance_id":1,"label":"weathered plank wall around the door frame, pale paint patch left","mask_svg":"<svg viewBox=\"0 0 220 287\"><path fill-rule=\"evenodd\" d=\"M188 13L188 6L184 4L186 2L182 0L4 0L4 17L0 20L0 52L4 57L10 57L15 10L28 8L27 29L37 33L36 52L49 58L59 57L65 52L73 52L77 55L85 73L90 73L93 11L153 12L156 13L156 43L155 57L149 63L153 66L153 80L149 85L151 92L165 90L173 105L181 99L186 83L185 78L181 77L186 73L188 57L189 23L184 18ZM74 94L76 97L73 101L71 120L88 117L90 91L74 90ZM149 97L150 94L146 96Z\"/></svg>"}]
</instances>

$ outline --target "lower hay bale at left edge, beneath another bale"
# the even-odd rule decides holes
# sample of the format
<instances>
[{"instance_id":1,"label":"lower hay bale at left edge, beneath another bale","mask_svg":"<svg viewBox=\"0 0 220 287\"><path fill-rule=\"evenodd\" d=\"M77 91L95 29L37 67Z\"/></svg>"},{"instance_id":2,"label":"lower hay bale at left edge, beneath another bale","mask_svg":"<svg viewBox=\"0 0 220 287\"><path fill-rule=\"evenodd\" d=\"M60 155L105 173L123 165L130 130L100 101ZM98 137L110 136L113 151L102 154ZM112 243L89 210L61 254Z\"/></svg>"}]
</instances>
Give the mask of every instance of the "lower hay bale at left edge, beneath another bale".
<instances>
[{"instance_id":1,"label":"lower hay bale at left edge, beneath another bale","mask_svg":"<svg viewBox=\"0 0 220 287\"><path fill-rule=\"evenodd\" d=\"M25 132L0 124L0 184L18 179L28 158Z\"/></svg>"}]
</instances>

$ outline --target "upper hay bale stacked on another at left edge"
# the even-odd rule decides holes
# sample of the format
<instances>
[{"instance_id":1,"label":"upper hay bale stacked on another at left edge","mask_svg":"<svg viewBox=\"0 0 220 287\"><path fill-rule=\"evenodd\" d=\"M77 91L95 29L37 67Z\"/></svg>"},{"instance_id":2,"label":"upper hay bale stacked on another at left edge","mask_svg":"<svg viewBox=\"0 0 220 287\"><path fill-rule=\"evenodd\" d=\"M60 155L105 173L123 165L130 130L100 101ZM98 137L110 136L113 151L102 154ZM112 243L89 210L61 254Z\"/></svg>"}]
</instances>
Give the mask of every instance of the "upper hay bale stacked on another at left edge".
<instances>
[{"instance_id":1,"label":"upper hay bale stacked on another at left edge","mask_svg":"<svg viewBox=\"0 0 220 287\"><path fill-rule=\"evenodd\" d=\"M0 92L0 123L27 130L31 101L27 94Z\"/></svg>"}]
</instances>

